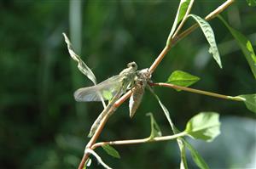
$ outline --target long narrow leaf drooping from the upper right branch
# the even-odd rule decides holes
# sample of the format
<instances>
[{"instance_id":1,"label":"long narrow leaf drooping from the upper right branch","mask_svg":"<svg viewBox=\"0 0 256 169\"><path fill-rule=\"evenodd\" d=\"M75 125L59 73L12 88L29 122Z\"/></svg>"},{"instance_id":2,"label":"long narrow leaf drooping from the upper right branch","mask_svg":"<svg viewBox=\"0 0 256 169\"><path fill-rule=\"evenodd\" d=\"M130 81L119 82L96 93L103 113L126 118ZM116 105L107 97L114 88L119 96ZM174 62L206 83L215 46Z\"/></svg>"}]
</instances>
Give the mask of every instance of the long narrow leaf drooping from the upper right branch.
<instances>
[{"instance_id":1,"label":"long narrow leaf drooping from the upper right branch","mask_svg":"<svg viewBox=\"0 0 256 169\"><path fill-rule=\"evenodd\" d=\"M195 14L189 14L189 16L195 19L196 22L200 25L201 30L203 31L205 37L207 37L207 41L210 44L209 53L212 54L219 67L222 68L221 59L219 57L218 48L211 25L209 25L207 20L202 19L200 16L197 16Z\"/></svg>"}]
</instances>

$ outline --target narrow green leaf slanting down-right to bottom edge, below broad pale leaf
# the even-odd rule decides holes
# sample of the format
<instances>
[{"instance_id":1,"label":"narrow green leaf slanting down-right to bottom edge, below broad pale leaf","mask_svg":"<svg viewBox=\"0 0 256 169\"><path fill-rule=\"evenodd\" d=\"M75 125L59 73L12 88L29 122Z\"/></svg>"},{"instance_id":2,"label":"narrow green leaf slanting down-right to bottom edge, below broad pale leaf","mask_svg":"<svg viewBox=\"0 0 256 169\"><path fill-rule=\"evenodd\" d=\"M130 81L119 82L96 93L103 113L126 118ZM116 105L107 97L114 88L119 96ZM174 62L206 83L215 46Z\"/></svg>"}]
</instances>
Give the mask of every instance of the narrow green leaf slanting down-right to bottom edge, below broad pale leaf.
<instances>
[{"instance_id":1,"label":"narrow green leaf slanting down-right to bottom edge, below broad pale leaf","mask_svg":"<svg viewBox=\"0 0 256 169\"><path fill-rule=\"evenodd\" d=\"M189 144L185 139L183 139L183 143L186 145L186 147L189 149L191 156L193 158L193 161L195 161L196 166L198 166L201 169L209 169L209 166L207 165L206 161L203 160L201 155L198 153L194 147Z\"/></svg>"}]
</instances>

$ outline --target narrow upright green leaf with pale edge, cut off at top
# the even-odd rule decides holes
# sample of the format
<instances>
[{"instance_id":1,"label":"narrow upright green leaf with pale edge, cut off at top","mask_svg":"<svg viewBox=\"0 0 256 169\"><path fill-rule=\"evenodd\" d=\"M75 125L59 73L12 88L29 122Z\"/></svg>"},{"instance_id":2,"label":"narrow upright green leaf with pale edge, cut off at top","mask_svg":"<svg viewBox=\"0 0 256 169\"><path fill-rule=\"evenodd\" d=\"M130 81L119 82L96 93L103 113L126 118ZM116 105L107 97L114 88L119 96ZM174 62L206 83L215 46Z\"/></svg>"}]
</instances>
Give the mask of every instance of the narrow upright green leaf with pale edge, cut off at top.
<instances>
[{"instance_id":1,"label":"narrow upright green leaf with pale edge, cut off at top","mask_svg":"<svg viewBox=\"0 0 256 169\"><path fill-rule=\"evenodd\" d=\"M172 37L174 31L176 30L177 28L177 24L183 20L183 17L184 15L186 14L187 12L187 9L189 7L189 2L190 0L181 0L179 5L178 5L178 8L177 8L177 14L176 14L176 17L175 17L175 20L173 22L173 25L172 25L172 30L170 32L170 35L169 37Z\"/></svg>"}]
</instances>

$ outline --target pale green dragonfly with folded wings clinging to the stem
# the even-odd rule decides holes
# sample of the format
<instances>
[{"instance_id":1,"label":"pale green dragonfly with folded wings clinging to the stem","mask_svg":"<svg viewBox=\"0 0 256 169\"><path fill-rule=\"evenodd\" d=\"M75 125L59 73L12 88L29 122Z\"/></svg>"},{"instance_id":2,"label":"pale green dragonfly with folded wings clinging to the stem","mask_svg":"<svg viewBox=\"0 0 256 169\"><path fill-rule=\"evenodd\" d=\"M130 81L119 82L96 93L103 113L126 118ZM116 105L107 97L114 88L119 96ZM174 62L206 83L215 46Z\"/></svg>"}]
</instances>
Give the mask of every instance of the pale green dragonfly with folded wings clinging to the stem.
<instances>
[{"instance_id":1,"label":"pale green dragonfly with folded wings clinging to the stem","mask_svg":"<svg viewBox=\"0 0 256 169\"><path fill-rule=\"evenodd\" d=\"M113 111L110 111L113 104L126 92L127 89L133 86L136 78L137 64L131 62L127 65L125 70L122 70L119 73L119 75L112 76L95 86L82 87L75 91L74 99L79 102L102 101L102 99L109 101L107 107L102 110L102 113L90 127L89 137L96 132L96 129L99 127L103 118L113 114Z\"/></svg>"}]
</instances>

